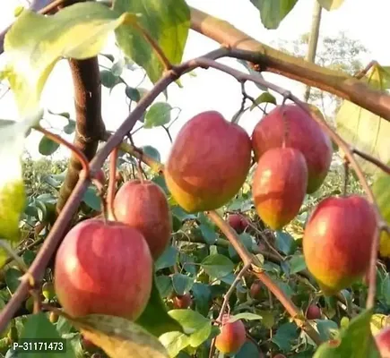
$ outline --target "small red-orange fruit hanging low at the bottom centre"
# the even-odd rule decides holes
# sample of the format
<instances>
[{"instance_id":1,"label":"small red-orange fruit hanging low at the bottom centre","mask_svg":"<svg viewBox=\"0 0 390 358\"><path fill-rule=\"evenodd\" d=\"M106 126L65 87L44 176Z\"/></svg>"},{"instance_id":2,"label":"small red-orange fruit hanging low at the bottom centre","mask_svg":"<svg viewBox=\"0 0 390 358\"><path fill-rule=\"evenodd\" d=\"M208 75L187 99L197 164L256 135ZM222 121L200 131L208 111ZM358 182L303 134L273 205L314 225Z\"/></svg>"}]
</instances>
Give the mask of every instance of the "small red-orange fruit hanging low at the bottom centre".
<instances>
[{"instance_id":1,"label":"small red-orange fruit hanging low at the bottom centre","mask_svg":"<svg viewBox=\"0 0 390 358\"><path fill-rule=\"evenodd\" d=\"M215 338L216 348L223 354L237 354L247 340L244 323L241 320L229 322L230 316L222 317L221 333Z\"/></svg>"}]
</instances>

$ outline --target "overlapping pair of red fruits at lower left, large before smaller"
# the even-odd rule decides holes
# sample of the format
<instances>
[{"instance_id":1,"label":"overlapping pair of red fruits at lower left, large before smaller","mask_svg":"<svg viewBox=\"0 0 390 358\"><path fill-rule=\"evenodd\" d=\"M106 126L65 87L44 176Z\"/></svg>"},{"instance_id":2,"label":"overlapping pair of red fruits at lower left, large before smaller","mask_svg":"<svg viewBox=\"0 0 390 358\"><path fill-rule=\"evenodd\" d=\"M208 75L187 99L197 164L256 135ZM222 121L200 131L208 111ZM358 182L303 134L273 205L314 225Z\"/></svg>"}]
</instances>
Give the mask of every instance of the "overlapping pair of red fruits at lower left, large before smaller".
<instances>
[{"instance_id":1,"label":"overlapping pair of red fruits at lower left, large before smaller","mask_svg":"<svg viewBox=\"0 0 390 358\"><path fill-rule=\"evenodd\" d=\"M149 301L153 260L171 234L168 200L158 185L134 180L117 192L114 212L118 221L74 226L56 253L56 296L71 316L136 320Z\"/></svg>"}]
</instances>

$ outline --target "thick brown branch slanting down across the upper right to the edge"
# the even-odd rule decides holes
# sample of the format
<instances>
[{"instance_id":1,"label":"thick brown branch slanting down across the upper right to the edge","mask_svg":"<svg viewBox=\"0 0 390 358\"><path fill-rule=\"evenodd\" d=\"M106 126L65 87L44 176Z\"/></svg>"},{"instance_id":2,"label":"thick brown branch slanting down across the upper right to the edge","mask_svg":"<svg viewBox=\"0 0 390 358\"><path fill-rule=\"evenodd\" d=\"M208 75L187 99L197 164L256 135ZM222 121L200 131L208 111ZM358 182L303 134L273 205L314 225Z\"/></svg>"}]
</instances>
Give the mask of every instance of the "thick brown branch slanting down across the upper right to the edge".
<instances>
[{"instance_id":1,"label":"thick brown branch slanting down across the upper right to the edge","mask_svg":"<svg viewBox=\"0 0 390 358\"><path fill-rule=\"evenodd\" d=\"M191 28L224 47L243 50L241 53L235 51L234 57L256 64L258 71L282 74L310 87L326 90L390 121L390 96L385 92L373 90L347 73L325 69L265 46L229 22L194 8L191 9Z\"/></svg>"}]
</instances>

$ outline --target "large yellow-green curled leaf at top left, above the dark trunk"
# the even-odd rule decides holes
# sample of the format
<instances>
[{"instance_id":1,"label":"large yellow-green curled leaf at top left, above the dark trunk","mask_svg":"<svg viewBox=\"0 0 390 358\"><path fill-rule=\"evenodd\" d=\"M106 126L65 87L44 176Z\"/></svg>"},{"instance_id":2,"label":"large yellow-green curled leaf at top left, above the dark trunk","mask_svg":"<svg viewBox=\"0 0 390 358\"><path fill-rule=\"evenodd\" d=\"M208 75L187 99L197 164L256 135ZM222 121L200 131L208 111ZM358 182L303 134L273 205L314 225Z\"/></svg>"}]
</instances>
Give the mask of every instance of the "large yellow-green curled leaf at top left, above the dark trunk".
<instances>
[{"instance_id":1,"label":"large yellow-green curled leaf at top left, above the dark trunk","mask_svg":"<svg viewBox=\"0 0 390 358\"><path fill-rule=\"evenodd\" d=\"M4 38L9 59L4 77L19 111L27 114L39 106L48 75L60 58L98 55L110 31L135 19L135 15L119 16L107 6L91 2L67 6L52 16L23 11Z\"/></svg>"}]
</instances>

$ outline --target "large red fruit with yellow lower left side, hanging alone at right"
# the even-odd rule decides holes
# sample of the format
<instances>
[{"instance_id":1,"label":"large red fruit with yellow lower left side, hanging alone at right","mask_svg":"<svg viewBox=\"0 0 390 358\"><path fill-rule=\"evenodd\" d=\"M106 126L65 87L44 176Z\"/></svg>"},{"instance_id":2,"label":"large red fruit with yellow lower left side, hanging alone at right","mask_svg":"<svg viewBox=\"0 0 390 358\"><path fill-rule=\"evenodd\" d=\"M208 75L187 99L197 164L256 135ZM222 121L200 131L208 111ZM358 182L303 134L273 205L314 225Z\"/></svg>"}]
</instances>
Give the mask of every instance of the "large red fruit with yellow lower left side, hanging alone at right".
<instances>
[{"instance_id":1,"label":"large red fruit with yellow lower left side, hanging alone at right","mask_svg":"<svg viewBox=\"0 0 390 358\"><path fill-rule=\"evenodd\" d=\"M324 294L351 286L367 272L377 219L358 195L322 200L308 219L303 254Z\"/></svg>"}]
</instances>

